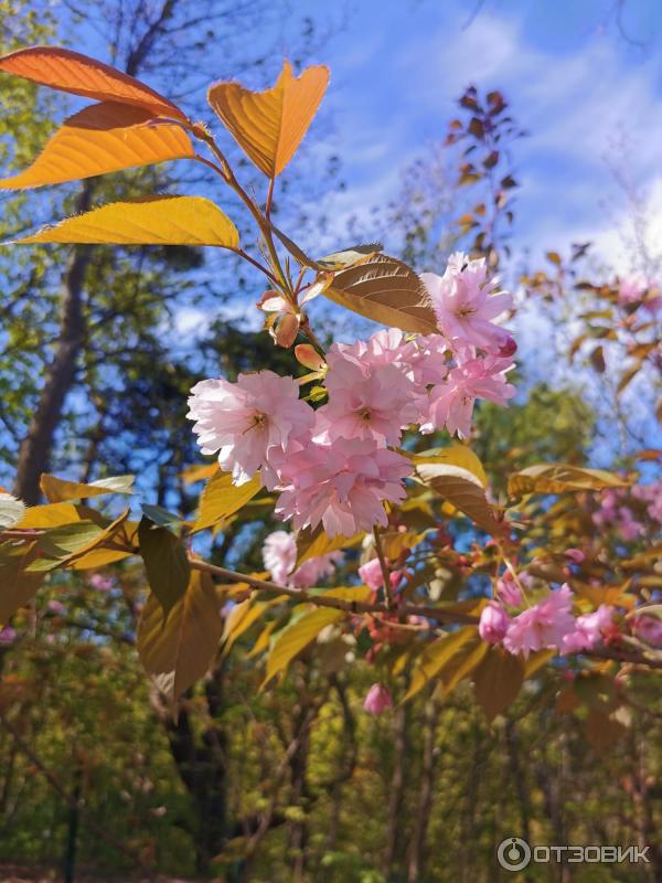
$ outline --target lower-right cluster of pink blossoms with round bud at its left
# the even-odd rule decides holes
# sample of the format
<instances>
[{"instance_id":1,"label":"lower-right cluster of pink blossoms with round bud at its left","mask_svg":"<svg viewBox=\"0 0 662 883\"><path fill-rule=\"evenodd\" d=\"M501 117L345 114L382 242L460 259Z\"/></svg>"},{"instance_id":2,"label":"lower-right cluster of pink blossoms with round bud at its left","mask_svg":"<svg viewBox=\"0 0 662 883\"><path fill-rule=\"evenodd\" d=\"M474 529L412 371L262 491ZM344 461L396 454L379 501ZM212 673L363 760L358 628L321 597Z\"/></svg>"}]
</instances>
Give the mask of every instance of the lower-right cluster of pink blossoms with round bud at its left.
<instances>
[{"instance_id":1,"label":"lower-right cluster of pink blossoms with round bud at its left","mask_svg":"<svg viewBox=\"0 0 662 883\"><path fill-rule=\"evenodd\" d=\"M579 653L591 650L612 631L613 607L601 604L594 613L573 616L573 593L567 583L513 617L503 605L519 607L523 597L512 577L499 581L496 594L502 603L491 600L483 608L478 630L484 641L502 643L511 653L525 658L544 649Z\"/></svg>"}]
</instances>

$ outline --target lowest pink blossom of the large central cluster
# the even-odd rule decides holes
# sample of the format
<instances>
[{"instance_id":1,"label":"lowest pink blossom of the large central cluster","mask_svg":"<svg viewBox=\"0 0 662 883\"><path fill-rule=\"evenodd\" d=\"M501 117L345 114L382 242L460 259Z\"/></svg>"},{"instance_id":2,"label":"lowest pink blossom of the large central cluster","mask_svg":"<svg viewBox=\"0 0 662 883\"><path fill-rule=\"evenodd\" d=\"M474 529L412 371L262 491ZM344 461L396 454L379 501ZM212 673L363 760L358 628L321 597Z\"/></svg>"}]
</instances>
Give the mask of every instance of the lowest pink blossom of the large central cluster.
<instances>
[{"instance_id":1,"label":"lowest pink blossom of the large central cluster","mask_svg":"<svg viewBox=\"0 0 662 883\"><path fill-rule=\"evenodd\" d=\"M296 530L321 521L329 536L352 536L386 525L383 502L405 498L403 479L410 472L405 457L372 438L310 444L284 464L276 513Z\"/></svg>"}]
</instances>

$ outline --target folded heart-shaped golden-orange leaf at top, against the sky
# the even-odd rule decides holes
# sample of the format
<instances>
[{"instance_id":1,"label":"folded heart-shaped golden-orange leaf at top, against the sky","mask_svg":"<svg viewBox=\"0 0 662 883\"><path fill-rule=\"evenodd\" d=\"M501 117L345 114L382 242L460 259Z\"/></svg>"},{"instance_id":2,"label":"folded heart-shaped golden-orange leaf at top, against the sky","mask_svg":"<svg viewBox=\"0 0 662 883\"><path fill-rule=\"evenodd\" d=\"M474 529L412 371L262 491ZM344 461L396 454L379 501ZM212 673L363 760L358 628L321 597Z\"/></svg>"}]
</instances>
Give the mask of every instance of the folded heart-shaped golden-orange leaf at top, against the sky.
<instances>
[{"instance_id":1,"label":"folded heart-shaped golden-orange leaf at top, against the sky","mask_svg":"<svg viewBox=\"0 0 662 883\"><path fill-rule=\"evenodd\" d=\"M285 62L276 85L266 92L216 83L207 98L257 168L268 178L277 178L308 131L328 83L327 67L308 67L296 77Z\"/></svg>"}]
</instances>

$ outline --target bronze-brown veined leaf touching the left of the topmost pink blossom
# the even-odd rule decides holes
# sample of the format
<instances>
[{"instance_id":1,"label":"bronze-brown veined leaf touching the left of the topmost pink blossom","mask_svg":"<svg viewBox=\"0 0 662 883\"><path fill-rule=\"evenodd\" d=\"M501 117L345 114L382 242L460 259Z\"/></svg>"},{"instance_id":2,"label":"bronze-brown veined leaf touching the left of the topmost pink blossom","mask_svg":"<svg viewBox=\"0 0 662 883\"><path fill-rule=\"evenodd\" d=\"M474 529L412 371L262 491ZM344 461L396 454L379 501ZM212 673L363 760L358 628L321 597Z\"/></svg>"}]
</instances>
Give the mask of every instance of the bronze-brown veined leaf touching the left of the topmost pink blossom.
<instances>
[{"instance_id":1,"label":"bronze-brown veined leaf touching the left of the topmost pink blossom","mask_svg":"<svg viewBox=\"0 0 662 883\"><path fill-rule=\"evenodd\" d=\"M421 334L439 333L425 286L395 257L376 254L341 270L323 295L375 322Z\"/></svg>"}]
</instances>

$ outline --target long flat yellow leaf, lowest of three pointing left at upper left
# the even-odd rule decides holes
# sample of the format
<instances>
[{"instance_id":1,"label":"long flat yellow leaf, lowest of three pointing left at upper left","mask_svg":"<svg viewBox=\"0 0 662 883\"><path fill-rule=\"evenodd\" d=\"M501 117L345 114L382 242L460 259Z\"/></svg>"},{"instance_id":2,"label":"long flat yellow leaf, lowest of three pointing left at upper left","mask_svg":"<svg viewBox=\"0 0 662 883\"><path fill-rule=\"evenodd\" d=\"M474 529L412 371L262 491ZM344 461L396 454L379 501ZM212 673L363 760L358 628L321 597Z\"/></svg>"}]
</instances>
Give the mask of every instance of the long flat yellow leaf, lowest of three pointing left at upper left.
<instances>
[{"instance_id":1,"label":"long flat yellow leaf, lowest of three pointing left at upper left","mask_svg":"<svg viewBox=\"0 0 662 883\"><path fill-rule=\"evenodd\" d=\"M236 248L239 234L204 196L162 195L102 205L18 240L20 245L41 242Z\"/></svg>"}]
</instances>

